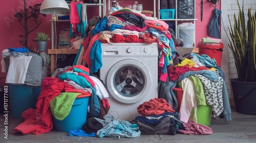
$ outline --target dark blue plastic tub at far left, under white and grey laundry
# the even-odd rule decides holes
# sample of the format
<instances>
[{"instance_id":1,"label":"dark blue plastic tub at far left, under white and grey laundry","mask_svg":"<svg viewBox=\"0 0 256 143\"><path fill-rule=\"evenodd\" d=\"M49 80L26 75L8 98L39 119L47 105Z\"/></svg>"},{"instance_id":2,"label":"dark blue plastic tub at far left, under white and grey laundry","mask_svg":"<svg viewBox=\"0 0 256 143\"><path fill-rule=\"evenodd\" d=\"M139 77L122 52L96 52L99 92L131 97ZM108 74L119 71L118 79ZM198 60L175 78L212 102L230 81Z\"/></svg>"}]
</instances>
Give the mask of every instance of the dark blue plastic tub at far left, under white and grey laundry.
<instances>
[{"instance_id":1,"label":"dark blue plastic tub at far left, under white and grey laundry","mask_svg":"<svg viewBox=\"0 0 256 143\"><path fill-rule=\"evenodd\" d=\"M41 87L10 83L7 83L7 85L11 105L11 115L13 118L22 118L22 113L28 108L35 109Z\"/></svg>"}]
</instances>

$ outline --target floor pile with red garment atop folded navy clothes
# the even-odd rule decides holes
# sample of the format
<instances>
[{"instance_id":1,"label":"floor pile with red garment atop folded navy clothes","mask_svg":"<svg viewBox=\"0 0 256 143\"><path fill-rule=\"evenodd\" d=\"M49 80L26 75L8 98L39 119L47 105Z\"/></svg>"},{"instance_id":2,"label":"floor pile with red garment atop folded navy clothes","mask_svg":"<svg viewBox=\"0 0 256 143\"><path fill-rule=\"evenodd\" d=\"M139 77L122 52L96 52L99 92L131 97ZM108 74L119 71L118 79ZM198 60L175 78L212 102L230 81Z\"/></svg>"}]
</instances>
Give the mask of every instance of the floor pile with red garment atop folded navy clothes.
<instances>
[{"instance_id":1,"label":"floor pile with red garment atop folded navy clothes","mask_svg":"<svg viewBox=\"0 0 256 143\"><path fill-rule=\"evenodd\" d=\"M154 98L138 106L140 116L135 118L143 134L172 134L185 130L179 114L165 99Z\"/></svg>"}]
</instances>

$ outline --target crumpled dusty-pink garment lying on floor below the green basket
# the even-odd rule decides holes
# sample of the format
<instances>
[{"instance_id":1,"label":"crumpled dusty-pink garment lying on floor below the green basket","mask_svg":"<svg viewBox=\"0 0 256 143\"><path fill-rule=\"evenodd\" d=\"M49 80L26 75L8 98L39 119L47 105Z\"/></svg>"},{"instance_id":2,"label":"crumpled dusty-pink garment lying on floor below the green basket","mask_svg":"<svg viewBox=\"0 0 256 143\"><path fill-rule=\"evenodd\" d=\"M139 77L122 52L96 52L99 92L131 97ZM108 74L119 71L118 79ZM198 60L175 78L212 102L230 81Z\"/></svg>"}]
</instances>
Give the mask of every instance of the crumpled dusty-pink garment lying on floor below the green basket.
<instances>
[{"instance_id":1,"label":"crumpled dusty-pink garment lying on floor below the green basket","mask_svg":"<svg viewBox=\"0 0 256 143\"><path fill-rule=\"evenodd\" d=\"M193 121L189 120L188 123L183 123L186 130L179 130L182 134L196 134L196 135L207 135L212 134L211 128L194 123Z\"/></svg>"}]
</instances>

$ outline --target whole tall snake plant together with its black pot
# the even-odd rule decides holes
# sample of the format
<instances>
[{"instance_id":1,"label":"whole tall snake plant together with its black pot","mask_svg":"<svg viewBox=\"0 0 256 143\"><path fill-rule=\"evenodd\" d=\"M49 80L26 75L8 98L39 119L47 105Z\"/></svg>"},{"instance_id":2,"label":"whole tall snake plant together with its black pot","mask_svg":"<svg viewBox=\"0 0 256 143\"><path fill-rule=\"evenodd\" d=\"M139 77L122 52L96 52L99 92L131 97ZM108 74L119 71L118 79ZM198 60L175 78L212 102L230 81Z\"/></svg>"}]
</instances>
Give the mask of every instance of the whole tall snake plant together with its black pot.
<instances>
[{"instance_id":1,"label":"whole tall snake plant together with its black pot","mask_svg":"<svg viewBox=\"0 0 256 143\"><path fill-rule=\"evenodd\" d=\"M228 46L238 73L238 78L231 78L230 83L237 112L256 115L256 12L248 8L246 20L244 1L242 7L238 0L237 3L239 11L238 16L233 15L233 24L228 16Z\"/></svg>"}]
</instances>

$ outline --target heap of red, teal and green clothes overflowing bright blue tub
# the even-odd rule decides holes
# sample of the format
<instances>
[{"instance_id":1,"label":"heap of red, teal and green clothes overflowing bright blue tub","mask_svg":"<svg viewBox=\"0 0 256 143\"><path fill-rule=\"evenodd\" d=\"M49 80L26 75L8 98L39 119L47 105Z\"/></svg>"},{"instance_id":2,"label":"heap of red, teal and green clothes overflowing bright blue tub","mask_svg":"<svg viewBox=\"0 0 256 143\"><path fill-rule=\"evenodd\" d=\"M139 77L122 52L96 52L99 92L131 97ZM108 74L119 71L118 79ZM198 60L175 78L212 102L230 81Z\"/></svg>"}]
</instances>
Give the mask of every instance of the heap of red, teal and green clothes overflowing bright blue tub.
<instances>
[{"instance_id":1,"label":"heap of red, teal and green clothes overflowing bright blue tub","mask_svg":"<svg viewBox=\"0 0 256 143\"><path fill-rule=\"evenodd\" d=\"M89 97L89 117L103 117L102 113L106 115L108 112L104 108L109 109L110 105L108 92L101 87L103 85L100 83L100 80L92 77L90 70L82 65L75 65L60 71L56 77L44 78L40 95L37 98L36 109L29 108L22 113L22 118L25 121L15 127L14 132L23 134L49 132L53 128L53 115L59 120L65 119L78 95ZM56 99L58 96L63 96L65 100L69 101L61 101L63 98ZM61 104L56 102L61 102ZM58 110L62 103L65 104L65 107Z\"/></svg>"}]
</instances>

